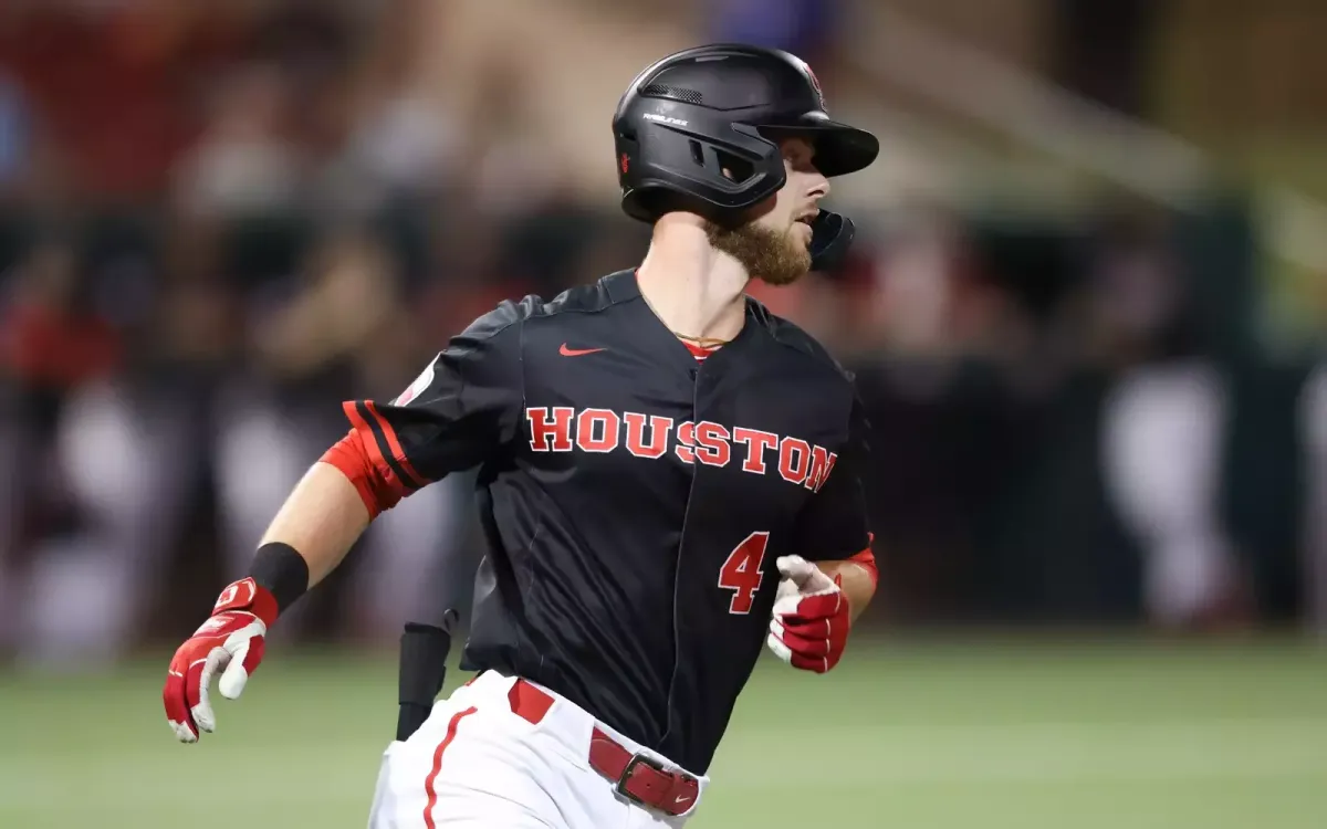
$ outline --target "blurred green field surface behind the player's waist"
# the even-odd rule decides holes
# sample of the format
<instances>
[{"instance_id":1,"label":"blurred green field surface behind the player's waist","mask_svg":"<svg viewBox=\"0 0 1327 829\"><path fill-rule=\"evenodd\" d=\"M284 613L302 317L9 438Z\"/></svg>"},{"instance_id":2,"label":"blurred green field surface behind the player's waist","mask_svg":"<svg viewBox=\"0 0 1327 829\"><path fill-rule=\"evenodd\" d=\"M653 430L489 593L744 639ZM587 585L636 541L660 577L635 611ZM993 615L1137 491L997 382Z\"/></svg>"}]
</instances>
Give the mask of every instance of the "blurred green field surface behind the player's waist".
<instances>
[{"instance_id":1,"label":"blurred green field surface behind the player's waist","mask_svg":"<svg viewBox=\"0 0 1327 829\"><path fill-rule=\"evenodd\" d=\"M855 645L824 678L760 666L691 826L1327 825L1327 653L1311 646ZM194 747L162 719L165 665L0 675L0 826L364 826L390 658L276 649Z\"/></svg>"}]
</instances>

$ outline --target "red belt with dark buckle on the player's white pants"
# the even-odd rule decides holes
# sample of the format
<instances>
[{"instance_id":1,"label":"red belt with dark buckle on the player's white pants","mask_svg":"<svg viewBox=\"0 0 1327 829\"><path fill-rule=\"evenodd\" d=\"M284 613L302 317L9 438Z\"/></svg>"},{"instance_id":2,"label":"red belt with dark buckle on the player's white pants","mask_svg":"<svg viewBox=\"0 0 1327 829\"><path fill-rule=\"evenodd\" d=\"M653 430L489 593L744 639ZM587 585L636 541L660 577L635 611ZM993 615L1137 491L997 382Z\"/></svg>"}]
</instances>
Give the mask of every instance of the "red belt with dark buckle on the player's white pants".
<instances>
[{"instance_id":1,"label":"red belt with dark buckle on the player's white pants","mask_svg":"<svg viewBox=\"0 0 1327 829\"><path fill-rule=\"evenodd\" d=\"M524 679L512 684L507 698L512 714L535 724L553 704L552 696ZM589 740L589 764L612 780L620 795L665 814L682 814L701 793L701 783L691 775L667 771L658 761L628 751L597 727Z\"/></svg>"}]
</instances>

